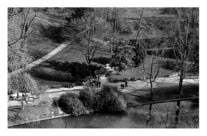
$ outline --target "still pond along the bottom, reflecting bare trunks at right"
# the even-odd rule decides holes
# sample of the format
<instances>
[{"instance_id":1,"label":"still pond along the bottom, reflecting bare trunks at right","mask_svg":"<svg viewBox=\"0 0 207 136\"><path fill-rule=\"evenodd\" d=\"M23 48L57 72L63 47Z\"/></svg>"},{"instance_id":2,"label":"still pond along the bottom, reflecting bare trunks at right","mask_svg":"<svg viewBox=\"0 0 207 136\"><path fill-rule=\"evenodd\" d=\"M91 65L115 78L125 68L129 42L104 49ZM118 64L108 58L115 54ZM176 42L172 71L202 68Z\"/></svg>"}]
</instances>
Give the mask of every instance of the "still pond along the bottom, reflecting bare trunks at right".
<instances>
[{"instance_id":1,"label":"still pond along the bottom, reflecting bare trunks at right","mask_svg":"<svg viewBox=\"0 0 207 136\"><path fill-rule=\"evenodd\" d=\"M154 104L152 109L151 124L146 124L148 106L141 106L137 108L129 108L126 113L122 114L101 114L95 113L82 116L67 116L56 119L44 120L39 122L27 123L22 125L13 126L11 128L146 128L146 127L166 127L170 125L174 120L175 102L169 102L165 104ZM195 106L195 102L185 101L182 102L181 107L181 122L183 117L198 118L198 106ZM167 116L167 113L168 116ZM188 113L189 117L188 117ZM183 116L183 117L182 117ZM194 117L195 116L195 117ZM163 124L163 118L168 117L168 122ZM171 117L171 118L170 118ZM193 127L195 125L194 120L184 123L183 127ZM189 124L192 124L190 126ZM187 124L187 126L186 126ZM198 127L198 122L197 122Z\"/></svg>"}]
</instances>

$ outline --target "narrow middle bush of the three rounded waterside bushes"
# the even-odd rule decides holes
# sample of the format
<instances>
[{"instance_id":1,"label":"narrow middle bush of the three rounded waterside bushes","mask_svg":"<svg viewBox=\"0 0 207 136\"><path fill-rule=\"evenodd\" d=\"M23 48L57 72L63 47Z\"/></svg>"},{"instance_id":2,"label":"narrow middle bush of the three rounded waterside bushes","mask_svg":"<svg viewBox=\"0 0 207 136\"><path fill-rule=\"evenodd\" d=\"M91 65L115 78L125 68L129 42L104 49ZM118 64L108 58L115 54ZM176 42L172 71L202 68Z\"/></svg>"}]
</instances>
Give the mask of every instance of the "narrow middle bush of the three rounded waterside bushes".
<instances>
[{"instance_id":1,"label":"narrow middle bush of the three rounded waterside bushes","mask_svg":"<svg viewBox=\"0 0 207 136\"><path fill-rule=\"evenodd\" d=\"M79 99L82 101L85 107L92 109L94 104L94 95L94 90L86 88L80 91Z\"/></svg>"}]
</instances>

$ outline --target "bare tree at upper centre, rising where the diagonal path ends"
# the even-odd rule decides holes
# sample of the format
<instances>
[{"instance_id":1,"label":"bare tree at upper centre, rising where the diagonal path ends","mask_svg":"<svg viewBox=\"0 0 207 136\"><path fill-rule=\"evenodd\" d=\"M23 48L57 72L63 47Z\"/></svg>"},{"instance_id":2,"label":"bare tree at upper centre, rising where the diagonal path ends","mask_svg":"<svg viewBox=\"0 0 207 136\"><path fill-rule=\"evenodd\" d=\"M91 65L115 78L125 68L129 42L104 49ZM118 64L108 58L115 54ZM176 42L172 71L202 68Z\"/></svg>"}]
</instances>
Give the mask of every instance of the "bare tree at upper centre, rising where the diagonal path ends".
<instances>
[{"instance_id":1,"label":"bare tree at upper centre, rising where the diagonal path ends","mask_svg":"<svg viewBox=\"0 0 207 136\"><path fill-rule=\"evenodd\" d=\"M99 11L97 9L86 11L81 20L82 23L85 24L85 27L90 28L85 35L83 35L81 40L90 74L92 74L91 63L96 55L96 52L101 48L101 46L109 43L101 40L106 35L109 28L106 22L101 17L97 16L98 12Z\"/></svg>"}]
</instances>

